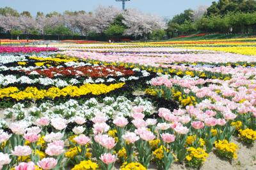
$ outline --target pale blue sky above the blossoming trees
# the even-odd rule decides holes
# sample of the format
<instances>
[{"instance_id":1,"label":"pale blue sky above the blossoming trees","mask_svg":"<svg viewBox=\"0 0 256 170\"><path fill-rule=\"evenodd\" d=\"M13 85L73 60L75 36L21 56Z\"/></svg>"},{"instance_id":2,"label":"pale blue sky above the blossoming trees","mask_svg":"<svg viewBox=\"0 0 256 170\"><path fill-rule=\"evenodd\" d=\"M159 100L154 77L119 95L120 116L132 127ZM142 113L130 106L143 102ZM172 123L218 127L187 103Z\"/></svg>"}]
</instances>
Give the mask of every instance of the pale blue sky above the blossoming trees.
<instances>
[{"instance_id":1,"label":"pale blue sky above the blossoming trees","mask_svg":"<svg viewBox=\"0 0 256 170\"><path fill-rule=\"evenodd\" d=\"M174 15L191 8L195 10L200 5L209 6L213 0L131 0L126 2L126 8L137 8L146 13L154 13L164 18L172 18ZM0 0L0 7L9 6L15 10L29 11L35 16L37 11L49 13L58 11L63 13L70 11L93 11L97 6L113 5L122 9L122 2L115 0Z\"/></svg>"}]
</instances>

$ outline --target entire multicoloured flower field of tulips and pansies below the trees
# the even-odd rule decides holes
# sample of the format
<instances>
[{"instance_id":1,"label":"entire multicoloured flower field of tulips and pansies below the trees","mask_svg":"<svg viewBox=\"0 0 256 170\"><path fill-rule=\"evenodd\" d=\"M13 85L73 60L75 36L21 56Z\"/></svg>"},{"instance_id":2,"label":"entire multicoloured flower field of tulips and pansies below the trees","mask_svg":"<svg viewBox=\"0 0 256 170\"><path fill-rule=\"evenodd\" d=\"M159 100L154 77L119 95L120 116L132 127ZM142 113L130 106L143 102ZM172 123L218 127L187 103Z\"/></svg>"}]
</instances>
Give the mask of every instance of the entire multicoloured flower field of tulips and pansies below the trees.
<instances>
[{"instance_id":1,"label":"entire multicoloured flower field of tulips and pansies below the trees","mask_svg":"<svg viewBox=\"0 0 256 170\"><path fill-rule=\"evenodd\" d=\"M0 46L0 169L255 169L254 41Z\"/></svg>"}]
</instances>

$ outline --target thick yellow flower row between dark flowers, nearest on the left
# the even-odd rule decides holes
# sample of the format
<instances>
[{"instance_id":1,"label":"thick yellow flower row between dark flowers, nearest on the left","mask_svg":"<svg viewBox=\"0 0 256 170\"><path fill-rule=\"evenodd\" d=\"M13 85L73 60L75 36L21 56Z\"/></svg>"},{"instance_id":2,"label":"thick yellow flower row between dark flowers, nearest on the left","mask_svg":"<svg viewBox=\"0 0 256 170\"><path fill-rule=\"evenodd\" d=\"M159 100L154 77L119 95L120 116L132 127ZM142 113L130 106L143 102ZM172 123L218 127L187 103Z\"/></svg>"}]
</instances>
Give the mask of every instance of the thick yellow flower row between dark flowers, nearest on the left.
<instances>
[{"instance_id":1,"label":"thick yellow flower row between dark flowers, nearest on the left","mask_svg":"<svg viewBox=\"0 0 256 170\"><path fill-rule=\"evenodd\" d=\"M86 83L80 87L68 86L63 89L51 87L48 90L38 90L36 87L27 87L23 91L20 91L17 87L7 87L0 89L0 99L3 99L4 97L11 97L17 101L24 99L33 99L36 101L38 99L44 99L45 97L54 99L55 97L60 96L79 97L86 94L100 95L107 94L115 89L120 89L124 85L125 83L115 83L111 85Z\"/></svg>"}]
</instances>

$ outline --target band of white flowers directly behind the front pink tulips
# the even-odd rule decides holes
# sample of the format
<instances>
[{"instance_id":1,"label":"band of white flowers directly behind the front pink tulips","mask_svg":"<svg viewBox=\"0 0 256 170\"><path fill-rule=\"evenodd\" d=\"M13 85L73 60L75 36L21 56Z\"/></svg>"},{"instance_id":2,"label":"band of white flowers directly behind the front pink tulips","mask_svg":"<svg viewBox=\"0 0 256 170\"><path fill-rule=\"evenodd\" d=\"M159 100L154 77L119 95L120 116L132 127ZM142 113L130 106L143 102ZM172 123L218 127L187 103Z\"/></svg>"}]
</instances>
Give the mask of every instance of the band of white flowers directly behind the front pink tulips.
<instances>
[{"instance_id":1,"label":"band of white flowers directly behind the front pink tulips","mask_svg":"<svg viewBox=\"0 0 256 170\"><path fill-rule=\"evenodd\" d=\"M134 101L130 101L124 96L119 96L116 99L113 97L105 97L104 103L99 103L95 98L91 98L79 104L76 100L70 99L63 104L51 104L49 102L40 104L39 107L31 106L25 108L24 104L17 103L12 108L4 110L4 116L6 120L13 120L20 122L26 122L31 125L35 123L36 118L49 117L49 118L65 118L68 122L72 122L74 117L84 117L90 120L97 114L106 115L108 118L118 117L131 117L132 108L134 106L143 106L145 115L150 115L153 111L153 106L150 101L136 97ZM22 115L20 117L19 115ZM7 121L8 122L8 121ZM0 122L0 126L8 123Z\"/></svg>"}]
</instances>

